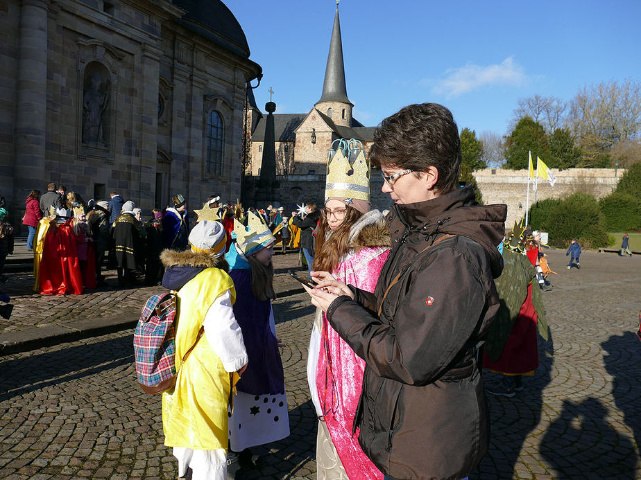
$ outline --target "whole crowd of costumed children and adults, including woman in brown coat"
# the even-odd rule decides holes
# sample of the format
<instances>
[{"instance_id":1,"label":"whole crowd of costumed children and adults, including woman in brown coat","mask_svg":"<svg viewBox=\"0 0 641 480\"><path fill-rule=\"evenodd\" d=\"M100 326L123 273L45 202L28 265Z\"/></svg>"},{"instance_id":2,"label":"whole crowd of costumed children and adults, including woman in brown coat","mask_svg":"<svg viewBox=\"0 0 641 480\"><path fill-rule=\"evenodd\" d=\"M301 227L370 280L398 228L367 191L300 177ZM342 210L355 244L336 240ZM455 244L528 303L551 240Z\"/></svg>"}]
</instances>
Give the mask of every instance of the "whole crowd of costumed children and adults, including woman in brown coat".
<instances>
[{"instance_id":1,"label":"whole crowd of costumed children and adults, including woman in brown coat","mask_svg":"<svg viewBox=\"0 0 641 480\"><path fill-rule=\"evenodd\" d=\"M371 166L388 211L371 208ZM49 184L28 195L23 219L36 288L101 285L106 254L119 285L144 275L176 292L180 368L162 393L165 445L180 477L226 479L256 463L253 447L290 434L272 258L276 245L300 247L316 307L307 380L318 479L465 479L490 442L482 369L504 377L490 393L522 389L538 366L536 335L547 336L541 295L552 285L540 233L515 225L506 239L506 206L477 204L460 167L451 112L425 103L386 118L368 157L341 140L322 208L291 215L212 195L190 223L175 195L144 221L116 192L85 203ZM10 249L5 217L0 207L0 254ZM579 267L576 247L568 268Z\"/></svg>"}]
</instances>

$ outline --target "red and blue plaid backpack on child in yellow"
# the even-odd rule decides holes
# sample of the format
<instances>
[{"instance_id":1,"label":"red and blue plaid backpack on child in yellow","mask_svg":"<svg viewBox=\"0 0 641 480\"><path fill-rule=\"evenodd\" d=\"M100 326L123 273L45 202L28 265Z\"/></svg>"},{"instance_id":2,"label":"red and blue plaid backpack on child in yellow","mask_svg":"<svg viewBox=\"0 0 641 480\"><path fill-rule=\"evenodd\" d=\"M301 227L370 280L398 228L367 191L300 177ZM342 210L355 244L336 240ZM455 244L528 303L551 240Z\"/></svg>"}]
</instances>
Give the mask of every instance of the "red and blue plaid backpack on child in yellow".
<instances>
[{"instance_id":1,"label":"red and blue plaid backpack on child in yellow","mask_svg":"<svg viewBox=\"0 0 641 480\"><path fill-rule=\"evenodd\" d=\"M145 393L162 393L176 384L180 365L205 332L200 327L194 345L182 357L176 368L176 294L164 293L151 296L140 312L134 332L134 357L138 383Z\"/></svg>"}]
</instances>

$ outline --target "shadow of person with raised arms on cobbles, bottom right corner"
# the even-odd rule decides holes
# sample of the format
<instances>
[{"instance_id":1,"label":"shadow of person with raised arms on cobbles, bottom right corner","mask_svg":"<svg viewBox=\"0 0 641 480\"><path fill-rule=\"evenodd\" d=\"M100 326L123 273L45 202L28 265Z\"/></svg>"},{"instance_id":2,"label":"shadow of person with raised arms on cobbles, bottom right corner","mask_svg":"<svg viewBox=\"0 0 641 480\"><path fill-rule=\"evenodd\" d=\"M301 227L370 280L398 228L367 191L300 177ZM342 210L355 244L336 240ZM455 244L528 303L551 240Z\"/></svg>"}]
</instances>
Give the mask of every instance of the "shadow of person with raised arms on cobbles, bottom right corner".
<instances>
[{"instance_id":1,"label":"shadow of person with raised arms on cobbles, bottom right corner","mask_svg":"<svg viewBox=\"0 0 641 480\"><path fill-rule=\"evenodd\" d=\"M563 401L561 414L549 425L541 456L558 479L634 479L636 456L629 438L606 421L608 409L588 397Z\"/></svg>"}]
</instances>

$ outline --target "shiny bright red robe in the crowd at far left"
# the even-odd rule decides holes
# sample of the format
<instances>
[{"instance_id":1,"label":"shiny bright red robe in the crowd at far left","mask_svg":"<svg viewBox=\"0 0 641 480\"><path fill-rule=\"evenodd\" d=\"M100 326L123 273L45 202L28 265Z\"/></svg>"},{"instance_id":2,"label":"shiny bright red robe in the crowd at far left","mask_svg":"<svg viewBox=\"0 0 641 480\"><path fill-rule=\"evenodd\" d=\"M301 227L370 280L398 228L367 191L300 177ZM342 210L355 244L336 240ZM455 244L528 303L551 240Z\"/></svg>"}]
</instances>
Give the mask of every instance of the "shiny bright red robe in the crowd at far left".
<instances>
[{"instance_id":1,"label":"shiny bright red robe in the crowd at far left","mask_svg":"<svg viewBox=\"0 0 641 480\"><path fill-rule=\"evenodd\" d=\"M58 226L51 224L42 248L39 292L43 295L82 294L83 277L78 263L76 235L69 222Z\"/></svg>"}]
</instances>

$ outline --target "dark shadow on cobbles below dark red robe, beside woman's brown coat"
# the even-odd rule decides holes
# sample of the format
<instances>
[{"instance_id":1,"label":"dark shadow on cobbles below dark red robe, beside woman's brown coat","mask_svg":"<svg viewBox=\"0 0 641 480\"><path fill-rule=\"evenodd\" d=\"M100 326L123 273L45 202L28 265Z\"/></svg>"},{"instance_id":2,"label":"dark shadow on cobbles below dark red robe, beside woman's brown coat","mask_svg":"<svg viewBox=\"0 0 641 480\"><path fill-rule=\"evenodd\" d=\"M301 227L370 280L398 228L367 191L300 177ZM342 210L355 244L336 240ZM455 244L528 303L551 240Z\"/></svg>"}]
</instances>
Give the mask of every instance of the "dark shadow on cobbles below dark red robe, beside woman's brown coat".
<instances>
[{"instance_id":1,"label":"dark shadow on cobbles below dark red robe, beside woman's brown coat","mask_svg":"<svg viewBox=\"0 0 641 480\"><path fill-rule=\"evenodd\" d=\"M511 479L530 433L537 427L543 406L542 392L549 384L554 364L554 341L548 329L548 341L538 337L539 366L533 376L523 377L524 389L513 398L488 394L490 403L490 448L470 480ZM484 371L484 381L493 374ZM490 380L491 381L491 380Z\"/></svg>"}]
</instances>

